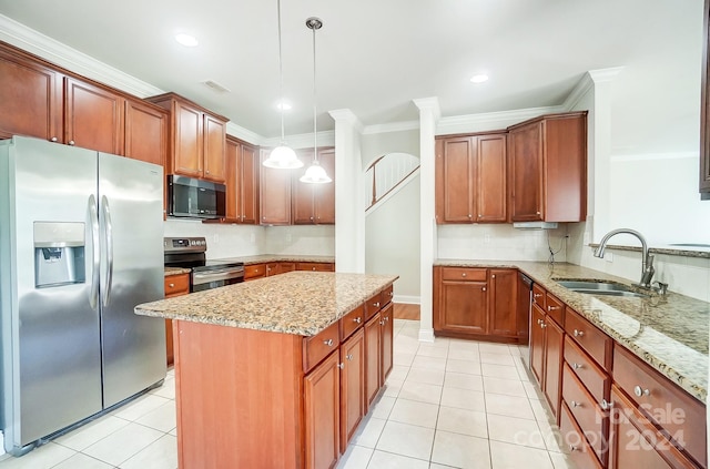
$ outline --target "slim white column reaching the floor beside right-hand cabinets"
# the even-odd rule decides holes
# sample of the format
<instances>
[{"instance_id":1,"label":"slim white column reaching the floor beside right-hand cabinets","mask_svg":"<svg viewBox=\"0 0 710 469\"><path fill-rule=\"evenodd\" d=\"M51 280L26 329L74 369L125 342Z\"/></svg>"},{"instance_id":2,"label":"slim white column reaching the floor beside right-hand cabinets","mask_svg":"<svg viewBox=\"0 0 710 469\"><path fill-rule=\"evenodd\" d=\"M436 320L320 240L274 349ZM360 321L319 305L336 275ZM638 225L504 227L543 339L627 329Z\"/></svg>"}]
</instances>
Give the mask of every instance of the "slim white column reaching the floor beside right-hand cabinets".
<instances>
[{"instance_id":1,"label":"slim white column reaching the floor beside right-hand cabinets","mask_svg":"<svg viewBox=\"0 0 710 469\"><path fill-rule=\"evenodd\" d=\"M434 281L432 272L434 259L436 259L434 137L440 111L437 98L418 99L414 100L414 103L419 108L419 340L434 341Z\"/></svg>"}]
</instances>

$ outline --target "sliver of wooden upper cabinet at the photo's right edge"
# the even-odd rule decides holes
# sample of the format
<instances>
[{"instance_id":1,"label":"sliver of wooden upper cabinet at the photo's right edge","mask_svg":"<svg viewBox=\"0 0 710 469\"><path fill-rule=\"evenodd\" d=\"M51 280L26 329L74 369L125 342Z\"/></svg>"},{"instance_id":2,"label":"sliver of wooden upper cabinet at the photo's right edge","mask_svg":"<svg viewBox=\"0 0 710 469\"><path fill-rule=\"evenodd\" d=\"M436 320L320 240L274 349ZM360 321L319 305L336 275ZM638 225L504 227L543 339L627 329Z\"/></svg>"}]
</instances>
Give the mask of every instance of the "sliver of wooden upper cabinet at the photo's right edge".
<instances>
[{"instance_id":1,"label":"sliver of wooden upper cabinet at the photo's right edge","mask_svg":"<svg viewBox=\"0 0 710 469\"><path fill-rule=\"evenodd\" d=\"M706 0L702 16L702 85L700 100L700 193L703 201L710 200L710 0Z\"/></svg>"}]
</instances>

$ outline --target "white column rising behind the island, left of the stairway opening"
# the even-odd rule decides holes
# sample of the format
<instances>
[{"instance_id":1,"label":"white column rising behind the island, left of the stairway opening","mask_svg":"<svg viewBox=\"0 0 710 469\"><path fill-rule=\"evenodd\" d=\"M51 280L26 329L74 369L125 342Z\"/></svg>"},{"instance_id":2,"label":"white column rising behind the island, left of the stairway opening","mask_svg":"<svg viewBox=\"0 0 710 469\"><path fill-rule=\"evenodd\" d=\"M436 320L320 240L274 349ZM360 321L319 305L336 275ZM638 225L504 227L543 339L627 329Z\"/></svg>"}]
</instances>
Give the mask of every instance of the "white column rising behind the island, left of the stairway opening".
<instances>
[{"instance_id":1,"label":"white column rising behind the island, left of the stairway opening","mask_svg":"<svg viewBox=\"0 0 710 469\"><path fill-rule=\"evenodd\" d=\"M335 268L362 274L365 272L363 125L349 109L329 114L335 120Z\"/></svg>"}]
</instances>

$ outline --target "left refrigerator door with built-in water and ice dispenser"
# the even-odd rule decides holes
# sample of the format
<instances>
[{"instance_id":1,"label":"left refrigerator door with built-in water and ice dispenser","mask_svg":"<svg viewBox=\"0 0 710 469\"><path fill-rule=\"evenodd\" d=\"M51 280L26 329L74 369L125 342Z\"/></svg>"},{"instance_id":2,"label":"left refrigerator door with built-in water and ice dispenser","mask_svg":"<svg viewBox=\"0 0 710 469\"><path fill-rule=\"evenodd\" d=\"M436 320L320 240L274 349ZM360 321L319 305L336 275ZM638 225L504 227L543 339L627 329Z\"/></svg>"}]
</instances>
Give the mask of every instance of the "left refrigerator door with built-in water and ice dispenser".
<instances>
[{"instance_id":1,"label":"left refrigerator door with built-in water and ice dispenser","mask_svg":"<svg viewBox=\"0 0 710 469\"><path fill-rule=\"evenodd\" d=\"M3 152L10 169L3 191L11 202L0 221L10 227L1 239L9 253L1 277L2 294L12 299L2 310L2 347L10 357L2 391L6 440L17 451L101 410L99 309L90 306L97 153L22 137ZM45 230L52 226L55 233ZM37 247L57 237L54 248ZM57 247L68 244L74 246ZM38 271L62 263L82 275L36 286L43 283Z\"/></svg>"}]
</instances>

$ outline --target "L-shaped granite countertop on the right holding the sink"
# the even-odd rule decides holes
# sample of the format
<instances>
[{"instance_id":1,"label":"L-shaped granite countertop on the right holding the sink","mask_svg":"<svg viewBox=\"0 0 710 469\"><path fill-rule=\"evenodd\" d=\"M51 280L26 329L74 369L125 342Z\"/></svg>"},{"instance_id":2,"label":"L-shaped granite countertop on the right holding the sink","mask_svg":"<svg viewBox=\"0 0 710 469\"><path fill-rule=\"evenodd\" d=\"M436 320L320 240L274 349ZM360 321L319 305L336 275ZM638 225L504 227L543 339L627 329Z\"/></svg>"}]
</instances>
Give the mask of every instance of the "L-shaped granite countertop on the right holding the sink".
<instances>
[{"instance_id":1,"label":"L-shaped granite countertop on the right holding the sink","mask_svg":"<svg viewBox=\"0 0 710 469\"><path fill-rule=\"evenodd\" d=\"M648 298L575 293L556 279L631 282L574 264L438 259L435 265L518 268L690 395L707 399L710 303L672 292Z\"/></svg>"}]
</instances>

